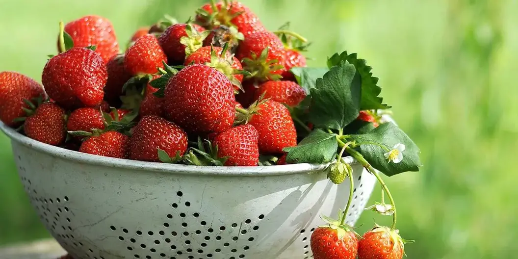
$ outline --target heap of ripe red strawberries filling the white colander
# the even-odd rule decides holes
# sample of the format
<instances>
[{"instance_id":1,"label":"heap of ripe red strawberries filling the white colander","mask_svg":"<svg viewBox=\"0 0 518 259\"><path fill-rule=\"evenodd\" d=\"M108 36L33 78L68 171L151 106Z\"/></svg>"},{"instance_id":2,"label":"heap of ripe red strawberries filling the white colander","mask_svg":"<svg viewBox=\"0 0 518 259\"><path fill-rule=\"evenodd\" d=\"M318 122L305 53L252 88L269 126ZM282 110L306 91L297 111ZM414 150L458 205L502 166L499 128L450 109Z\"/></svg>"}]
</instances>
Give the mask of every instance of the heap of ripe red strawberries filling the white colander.
<instances>
[{"instance_id":1,"label":"heap of ripe red strawberries filling the white colander","mask_svg":"<svg viewBox=\"0 0 518 259\"><path fill-rule=\"evenodd\" d=\"M124 53L106 18L61 25L42 86L0 73L0 120L26 136L196 165L256 166L260 154L280 157L297 145L287 107L306 96L290 73L306 66L305 39L268 31L241 3L206 4L194 21L140 28Z\"/></svg>"}]
</instances>

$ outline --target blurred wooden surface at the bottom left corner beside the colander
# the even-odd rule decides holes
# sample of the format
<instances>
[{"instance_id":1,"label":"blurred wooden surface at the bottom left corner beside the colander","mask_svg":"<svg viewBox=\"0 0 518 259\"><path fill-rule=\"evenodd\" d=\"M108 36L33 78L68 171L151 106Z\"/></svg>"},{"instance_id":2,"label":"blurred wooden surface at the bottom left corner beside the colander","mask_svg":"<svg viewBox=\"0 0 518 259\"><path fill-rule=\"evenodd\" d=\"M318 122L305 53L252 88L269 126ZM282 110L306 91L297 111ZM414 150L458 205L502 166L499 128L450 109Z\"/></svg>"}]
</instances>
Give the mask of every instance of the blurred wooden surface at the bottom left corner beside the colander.
<instances>
[{"instance_id":1,"label":"blurred wooden surface at the bottom left corner beside the colander","mask_svg":"<svg viewBox=\"0 0 518 259\"><path fill-rule=\"evenodd\" d=\"M54 239L0 247L0 259L56 259L65 254Z\"/></svg>"}]
</instances>

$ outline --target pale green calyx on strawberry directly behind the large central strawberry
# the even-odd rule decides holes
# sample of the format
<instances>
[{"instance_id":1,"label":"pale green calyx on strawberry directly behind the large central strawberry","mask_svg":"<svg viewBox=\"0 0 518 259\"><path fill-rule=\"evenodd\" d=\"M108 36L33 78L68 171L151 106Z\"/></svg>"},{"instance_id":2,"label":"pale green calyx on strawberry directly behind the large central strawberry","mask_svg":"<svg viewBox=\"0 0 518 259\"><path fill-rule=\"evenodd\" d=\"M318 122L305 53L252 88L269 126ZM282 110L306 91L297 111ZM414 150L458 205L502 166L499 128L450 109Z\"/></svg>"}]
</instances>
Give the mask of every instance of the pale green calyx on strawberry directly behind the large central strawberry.
<instances>
[{"instance_id":1,"label":"pale green calyx on strawberry directly behind the large central strawberry","mask_svg":"<svg viewBox=\"0 0 518 259\"><path fill-rule=\"evenodd\" d=\"M236 79L235 75L244 75L251 76L248 71L235 69L232 67L234 64L234 55L229 53L228 51L228 42L223 45L223 50L221 54L218 54L214 51L214 48L210 47L210 62L205 63L205 65L213 67L223 73L231 82L234 84L239 90L244 91L241 85L241 82ZM239 93L239 91L236 91Z\"/></svg>"}]
</instances>

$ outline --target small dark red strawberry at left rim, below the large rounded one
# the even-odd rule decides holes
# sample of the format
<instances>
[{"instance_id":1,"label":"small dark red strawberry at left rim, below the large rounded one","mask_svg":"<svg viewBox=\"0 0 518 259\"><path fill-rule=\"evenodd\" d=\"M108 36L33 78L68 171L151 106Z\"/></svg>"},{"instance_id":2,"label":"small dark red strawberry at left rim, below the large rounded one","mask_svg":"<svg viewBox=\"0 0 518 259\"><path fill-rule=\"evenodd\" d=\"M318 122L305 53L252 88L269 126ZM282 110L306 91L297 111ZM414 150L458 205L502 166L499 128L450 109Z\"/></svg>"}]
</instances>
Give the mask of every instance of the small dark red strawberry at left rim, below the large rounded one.
<instances>
[{"instance_id":1,"label":"small dark red strawberry at left rim, below the large rounded one","mask_svg":"<svg viewBox=\"0 0 518 259\"><path fill-rule=\"evenodd\" d=\"M65 110L55 103L44 103L29 114L23 129L27 137L58 146L66 137Z\"/></svg>"}]
</instances>

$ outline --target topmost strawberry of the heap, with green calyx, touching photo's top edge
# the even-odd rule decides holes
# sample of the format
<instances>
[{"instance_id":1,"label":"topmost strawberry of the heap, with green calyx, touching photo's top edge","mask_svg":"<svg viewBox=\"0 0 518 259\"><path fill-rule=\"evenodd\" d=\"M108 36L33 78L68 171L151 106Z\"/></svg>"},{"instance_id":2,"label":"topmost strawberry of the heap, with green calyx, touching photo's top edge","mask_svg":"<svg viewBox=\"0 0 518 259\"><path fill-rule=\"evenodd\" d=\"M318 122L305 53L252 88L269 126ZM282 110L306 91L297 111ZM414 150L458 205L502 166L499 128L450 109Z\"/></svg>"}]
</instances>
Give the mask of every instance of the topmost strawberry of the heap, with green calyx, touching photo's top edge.
<instances>
[{"instance_id":1,"label":"topmost strawberry of the heap, with green calyx, touching photo's top edge","mask_svg":"<svg viewBox=\"0 0 518 259\"><path fill-rule=\"evenodd\" d=\"M259 18L248 7L240 2L223 2L206 4L197 11L196 21L207 27L219 25L235 26L245 37L260 31L265 27Z\"/></svg>"}]
</instances>

